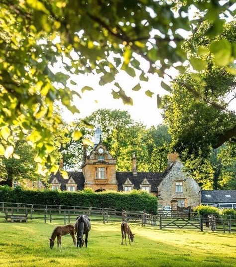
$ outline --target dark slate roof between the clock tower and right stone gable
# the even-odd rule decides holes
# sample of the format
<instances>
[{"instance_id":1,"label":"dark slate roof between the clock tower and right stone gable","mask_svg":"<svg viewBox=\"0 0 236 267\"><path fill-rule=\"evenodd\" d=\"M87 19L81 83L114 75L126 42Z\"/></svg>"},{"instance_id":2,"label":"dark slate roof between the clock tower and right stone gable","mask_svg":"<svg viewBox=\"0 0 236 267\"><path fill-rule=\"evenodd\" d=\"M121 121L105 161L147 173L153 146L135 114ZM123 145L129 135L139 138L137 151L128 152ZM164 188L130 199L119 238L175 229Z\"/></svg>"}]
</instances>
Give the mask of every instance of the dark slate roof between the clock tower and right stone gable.
<instances>
[{"instance_id":1,"label":"dark slate roof between the clock tower and right stone gable","mask_svg":"<svg viewBox=\"0 0 236 267\"><path fill-rule=\"evenodd\" d=\"M155 192L165 175L165 172L138 172L137 175L133 175L131 171L117 171L116 178L118 181L118 191L123 191L123 184L127 178L129 178L130 182L133 184L133 188L137 190L140 189L140 184L146 178L151 184L151 192Z\"/></svg>"}]
</instances>

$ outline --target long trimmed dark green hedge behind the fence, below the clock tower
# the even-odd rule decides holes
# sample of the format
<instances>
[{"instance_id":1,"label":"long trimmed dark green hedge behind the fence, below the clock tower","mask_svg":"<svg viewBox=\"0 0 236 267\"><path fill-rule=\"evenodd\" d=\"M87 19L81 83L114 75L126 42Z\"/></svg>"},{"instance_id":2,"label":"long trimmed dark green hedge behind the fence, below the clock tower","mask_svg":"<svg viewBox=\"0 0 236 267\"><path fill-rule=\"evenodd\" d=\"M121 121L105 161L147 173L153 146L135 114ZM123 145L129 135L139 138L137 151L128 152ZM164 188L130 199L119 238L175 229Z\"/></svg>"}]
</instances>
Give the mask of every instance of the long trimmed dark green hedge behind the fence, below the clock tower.
<instances>
[{"instance_id":1,"label":"long trimmed dark green hedge behind the fence, below the clock tower","mask_svg":"<svg viewBox=\"0 0 236 267\"><path fill-rule=\"evenodd\" d=\"M117 211L142 211L156 214L157 198L143 190L130 192L94 192L85 189L78 192L12 189L0 186L0 202L29 203L41 205L65 205L81 207L114 208Z\"/></svg>"}]
</instances>

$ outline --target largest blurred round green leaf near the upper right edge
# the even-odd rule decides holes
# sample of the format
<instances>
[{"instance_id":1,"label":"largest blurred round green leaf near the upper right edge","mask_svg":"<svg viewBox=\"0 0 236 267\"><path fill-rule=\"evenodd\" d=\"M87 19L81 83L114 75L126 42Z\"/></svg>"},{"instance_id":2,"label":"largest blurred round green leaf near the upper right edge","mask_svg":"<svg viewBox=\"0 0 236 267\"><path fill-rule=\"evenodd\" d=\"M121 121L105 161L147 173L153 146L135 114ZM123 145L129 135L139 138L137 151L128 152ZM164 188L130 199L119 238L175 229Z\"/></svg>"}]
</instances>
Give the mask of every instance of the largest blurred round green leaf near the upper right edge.
<instances>
[{"instance_id":1,"label":"largest blurred round green leaf near the upper right edge","mask_svg":"<svg viewBox=\"0 0 236 267\"><path fill-rule=\"evenodd\" d=\"M216 65L227 66L230 63L232 47L228 40L215 41L211 44L210 51L215 56Z\"/></svg>"}]
</instances>

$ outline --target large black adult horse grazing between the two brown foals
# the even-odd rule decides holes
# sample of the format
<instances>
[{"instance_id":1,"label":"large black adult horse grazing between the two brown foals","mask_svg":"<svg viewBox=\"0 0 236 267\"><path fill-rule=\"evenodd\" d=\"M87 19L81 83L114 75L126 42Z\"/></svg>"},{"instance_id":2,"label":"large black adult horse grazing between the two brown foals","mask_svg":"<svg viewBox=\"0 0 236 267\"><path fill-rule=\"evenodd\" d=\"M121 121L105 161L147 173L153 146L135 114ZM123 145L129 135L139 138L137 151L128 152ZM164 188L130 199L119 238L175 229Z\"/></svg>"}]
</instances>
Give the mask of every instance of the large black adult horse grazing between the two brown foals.
<instances>
[{"instance_id":1,"label":"large black adult horse grazing between the two brown foals","mask_svg":"<svg viewBox=\"0 0 236 267\"><path fill-rule=\"evenodd\" d=\"M87 248L89 231L91 229L90 219L86 215L80 215L76 218L75 230L77 232L77 248L84 245L83 235L85 235L85 247Z\"/></svg>"}]
</instances>

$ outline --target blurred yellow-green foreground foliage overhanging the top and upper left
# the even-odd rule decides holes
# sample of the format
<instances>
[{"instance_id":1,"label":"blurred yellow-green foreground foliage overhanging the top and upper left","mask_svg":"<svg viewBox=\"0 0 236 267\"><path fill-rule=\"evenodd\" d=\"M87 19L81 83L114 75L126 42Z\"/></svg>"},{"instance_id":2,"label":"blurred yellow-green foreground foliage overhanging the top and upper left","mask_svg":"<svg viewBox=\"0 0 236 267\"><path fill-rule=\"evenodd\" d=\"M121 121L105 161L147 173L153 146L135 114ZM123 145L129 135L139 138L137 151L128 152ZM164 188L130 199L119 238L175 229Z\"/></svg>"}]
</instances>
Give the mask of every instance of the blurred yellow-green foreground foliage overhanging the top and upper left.
<instances>
[{"instance_id":1,"label":"blurred yellow-green foreground foliage overhanging the top and upper left","mask_svg":"<svg viewBox=\"0 0 236 267\"><path fill-rule=\"evenodd\" d=\"M13 155L15 143L9 127L19 126L21 132L29 131L27 139L37 151L37 171L45 175L44 165L55 162L50 156L53 135L62 123L59 116L53 116L53 103L60 100L71 112L78 112L71 105L76 93L66 83L76 84L71 74L99 73L100 85L111 83L114 98L132 104L116 83L118 71L147 81L137 60L140 55L149 63L149 73L164 77L166 69L187 58L178 29L195 32L208 20L211 26L204 34L211 39L222 32L224 14L233 14L233 4L231 0L224 4L193 0L0 0L0 154ZM190 6L200 11L192 21ZM221 51L216 47L213 53ZM55 74L48 66L58 58L63 67ZM226 65L232 62L230 57ZM164 82L162 87L171 90ZM133 90L139 88L140 83ZM82 93L85 90L93 89L85 86ZM150 91L146 94L152 96ZM50 170L55 171L55 166Z\"/></svg>"}]
</instances>

